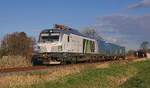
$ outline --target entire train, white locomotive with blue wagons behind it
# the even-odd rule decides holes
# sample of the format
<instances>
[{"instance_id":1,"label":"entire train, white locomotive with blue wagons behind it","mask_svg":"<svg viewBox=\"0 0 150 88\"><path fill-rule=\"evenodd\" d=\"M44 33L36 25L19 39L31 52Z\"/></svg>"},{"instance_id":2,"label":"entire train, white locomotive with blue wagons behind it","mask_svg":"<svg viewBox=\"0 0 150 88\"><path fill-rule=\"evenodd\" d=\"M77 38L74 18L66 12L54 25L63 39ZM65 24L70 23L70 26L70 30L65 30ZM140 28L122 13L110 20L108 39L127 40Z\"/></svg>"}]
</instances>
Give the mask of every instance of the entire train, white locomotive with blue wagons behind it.
<instances>
[{"instance_id":1,"label":"entire train, white locomotive with blue wagons behind it","mask_svg":"<svg viewBox=\"0 0 150 88\"><path fill-rule=\"evenodd\" d=\"M58 24L41 31L37 47L37 53L31 60L33 65L125 59L125 47Z\"/></svg>"}]
</instances>

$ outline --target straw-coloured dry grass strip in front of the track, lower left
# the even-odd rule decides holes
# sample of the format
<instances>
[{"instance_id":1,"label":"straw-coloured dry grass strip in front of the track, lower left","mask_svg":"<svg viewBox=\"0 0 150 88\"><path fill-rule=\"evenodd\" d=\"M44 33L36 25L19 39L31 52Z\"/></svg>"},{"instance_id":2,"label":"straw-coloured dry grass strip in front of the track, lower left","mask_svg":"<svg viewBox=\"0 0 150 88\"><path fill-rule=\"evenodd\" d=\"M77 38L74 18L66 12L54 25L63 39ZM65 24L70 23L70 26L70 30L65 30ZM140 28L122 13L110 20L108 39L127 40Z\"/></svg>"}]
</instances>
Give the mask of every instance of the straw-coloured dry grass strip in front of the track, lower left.
<instances>
[{"instance_id":1,"label":"straw-coloured dry grass strip in front of the track, lower left","mask_svg":"<svg viewBox=\"0 0 150 88\"><path fill-rule=\"evenodd\" d=\"M6 76L0 78L0 88L13 87L18 85L32 85L43 82L50 82L53 80L61 79L64 76L79 73L81 68L73 67L68 69L61 69L59 71L48 71L42 74L27 74L27 75L15 75Z\"/></svg>"}]
</instances>

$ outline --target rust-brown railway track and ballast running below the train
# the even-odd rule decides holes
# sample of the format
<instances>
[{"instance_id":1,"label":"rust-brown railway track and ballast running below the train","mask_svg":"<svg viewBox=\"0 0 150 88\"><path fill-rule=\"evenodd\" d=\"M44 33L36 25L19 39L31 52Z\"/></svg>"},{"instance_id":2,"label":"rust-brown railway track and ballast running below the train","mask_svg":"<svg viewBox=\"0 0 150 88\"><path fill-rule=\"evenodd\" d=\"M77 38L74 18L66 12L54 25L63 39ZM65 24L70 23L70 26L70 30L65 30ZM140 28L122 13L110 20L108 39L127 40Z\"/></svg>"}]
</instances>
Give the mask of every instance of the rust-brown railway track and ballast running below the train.
<instances>
[{"instance_id":1,"label":"rust-brown railway track and ballast running below the train","mask_svg":"<svg viewBox=\"0 0 150 88\"><path fill-rule=\"evenodd\" d=\"M67 65L52 65L52 66L31 66L31 67L21 67L21 68L8 68L0 69L0 77L11 76L11 75L25 75L33 73L44 73L48 71L57 71L60 69L67 69L73 66L90 66L96 64L102 64L102 62L92 62L92 63L78 63L78 64L67 64Z\"/></svg>"}]
</instances>

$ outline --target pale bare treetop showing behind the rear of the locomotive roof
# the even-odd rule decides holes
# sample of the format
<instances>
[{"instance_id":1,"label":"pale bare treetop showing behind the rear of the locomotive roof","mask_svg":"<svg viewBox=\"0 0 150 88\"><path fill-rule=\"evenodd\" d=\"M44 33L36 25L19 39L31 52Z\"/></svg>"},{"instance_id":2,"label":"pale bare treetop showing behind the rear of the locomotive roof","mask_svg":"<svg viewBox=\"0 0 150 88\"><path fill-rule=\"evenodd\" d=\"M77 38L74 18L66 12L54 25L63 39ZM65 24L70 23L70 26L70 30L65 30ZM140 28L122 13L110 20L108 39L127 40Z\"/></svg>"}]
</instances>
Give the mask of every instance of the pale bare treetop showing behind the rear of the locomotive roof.
<instances>
[{"instance_id":1,"label":"pale bare treetop showing behind the rear of the locomotive roof","mask_svg":"<svg viewBox=\"0 0 150 88\"><path fill-rule=\"evenodd\" d=\"M83 34L91 36L97 40L103 40L103 38L101 36L99 36L99 31L96 29L92 29L92 28L87 27L87 28L81 29L81 32Z\"/></svg>"}]
</instances>

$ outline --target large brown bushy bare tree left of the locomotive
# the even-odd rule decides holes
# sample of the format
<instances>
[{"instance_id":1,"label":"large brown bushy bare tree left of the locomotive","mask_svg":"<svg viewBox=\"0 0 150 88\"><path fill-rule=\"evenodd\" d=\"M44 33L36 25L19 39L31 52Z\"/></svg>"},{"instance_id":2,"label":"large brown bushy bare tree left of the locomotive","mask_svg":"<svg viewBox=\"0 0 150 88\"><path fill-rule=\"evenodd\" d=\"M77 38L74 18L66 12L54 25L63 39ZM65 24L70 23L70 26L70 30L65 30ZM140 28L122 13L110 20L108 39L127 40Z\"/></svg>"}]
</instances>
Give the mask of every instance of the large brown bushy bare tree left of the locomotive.
<instances>
[{"instance_id":1,"label":"large brown bushy bare tree left of the locomotive","mask_svg":"<svg viewBox=\"0 0 150 88\"><path fill-rule=\"evenodd\" d=\"M21 55L28 57L34 51L35 40L24 32L5 35L1 42L1 50L5 55Z\"/></svg>"}]
</instances>

